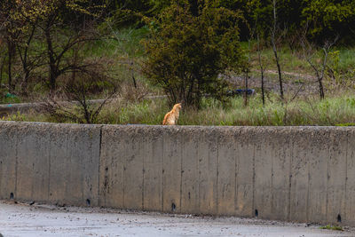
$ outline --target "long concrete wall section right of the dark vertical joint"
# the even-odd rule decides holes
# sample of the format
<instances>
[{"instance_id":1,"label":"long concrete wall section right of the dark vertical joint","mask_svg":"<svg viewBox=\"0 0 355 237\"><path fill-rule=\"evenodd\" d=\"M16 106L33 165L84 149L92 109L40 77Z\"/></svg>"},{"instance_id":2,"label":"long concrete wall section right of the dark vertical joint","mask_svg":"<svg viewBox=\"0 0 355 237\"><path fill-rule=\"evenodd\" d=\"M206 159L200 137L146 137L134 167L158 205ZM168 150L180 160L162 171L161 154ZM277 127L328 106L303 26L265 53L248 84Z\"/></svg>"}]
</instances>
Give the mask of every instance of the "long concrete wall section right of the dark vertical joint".
<instances>
[{"instance_id":1,"label":"long concrete wall section right of the dark vertical joint","mask_svg":"<svg viewBox=\"0 0 355 237\"><path fill-rule=\"evenodd\" d=\"M138 206L116 207L353 225L344 208L349 183L345 164L353 159L351 132L325 127L104 126L102 150L111 150L101 153L101 162L118 163L121 155L125 162L135 162L130 172L123 166L117 177L135 180L136 193L129 196ZM123 149L114 148L122 141ZM148 166L151 160L154 165ZM162 206L149 208L146 199Z\"/></svg>"}]
</instances>

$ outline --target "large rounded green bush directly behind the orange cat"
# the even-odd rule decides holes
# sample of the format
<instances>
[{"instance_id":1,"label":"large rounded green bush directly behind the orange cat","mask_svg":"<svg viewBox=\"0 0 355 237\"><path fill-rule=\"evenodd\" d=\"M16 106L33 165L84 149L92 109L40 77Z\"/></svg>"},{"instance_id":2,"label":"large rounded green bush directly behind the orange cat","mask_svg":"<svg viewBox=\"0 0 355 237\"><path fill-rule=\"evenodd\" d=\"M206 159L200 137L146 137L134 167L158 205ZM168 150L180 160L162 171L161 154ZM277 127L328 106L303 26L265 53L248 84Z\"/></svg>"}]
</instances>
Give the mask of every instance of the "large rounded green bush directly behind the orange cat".
<instances>
[{"instance_id":1,"label":"large rounded green bush directly behind the orange cat","mask_svg":"<svg viewBox=\"0 0 355 237\"><path fill-rule=\"evenodd\" d=\"M168 95L170 104L199 107L203 95L223 99L219 75L243 67L239 15L225 8L172 4L151 22L144 73Z\"/></svg>"}]
</instances>

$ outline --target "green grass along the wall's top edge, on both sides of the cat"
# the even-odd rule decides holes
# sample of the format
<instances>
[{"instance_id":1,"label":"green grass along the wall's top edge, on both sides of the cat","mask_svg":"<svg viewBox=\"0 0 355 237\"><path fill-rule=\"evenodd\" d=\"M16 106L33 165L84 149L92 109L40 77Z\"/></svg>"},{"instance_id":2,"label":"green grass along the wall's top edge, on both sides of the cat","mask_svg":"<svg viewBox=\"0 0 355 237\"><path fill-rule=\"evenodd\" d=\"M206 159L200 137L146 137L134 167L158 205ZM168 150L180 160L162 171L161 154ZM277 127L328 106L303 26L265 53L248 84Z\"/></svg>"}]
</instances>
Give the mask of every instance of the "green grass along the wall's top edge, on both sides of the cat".
<instances>
[{"instance_id":1,"label":"green grass along the wall's top edge, on both sides of the cat","mask_svg":"<svg viewBox=\"0 0 355 237\"><path fill-rule=\"evenodd\" d=\"M98 123L108 124L161 124L170 111L165 99L144 99L139 102L115 99L102 110ZM14 121L56 122L50 115L30 113L3 118ZM60 122L74 122L60 120ZM201 110L183 107L180 125L231 125L231 126L352 126L355 124L355 96L343 95L319 99L302 99L282 104L271 98L263 107L258 96L244 107L242 98L231 99L223 105L214 99L204 99Z\"/></svg>"}]
</instances>

